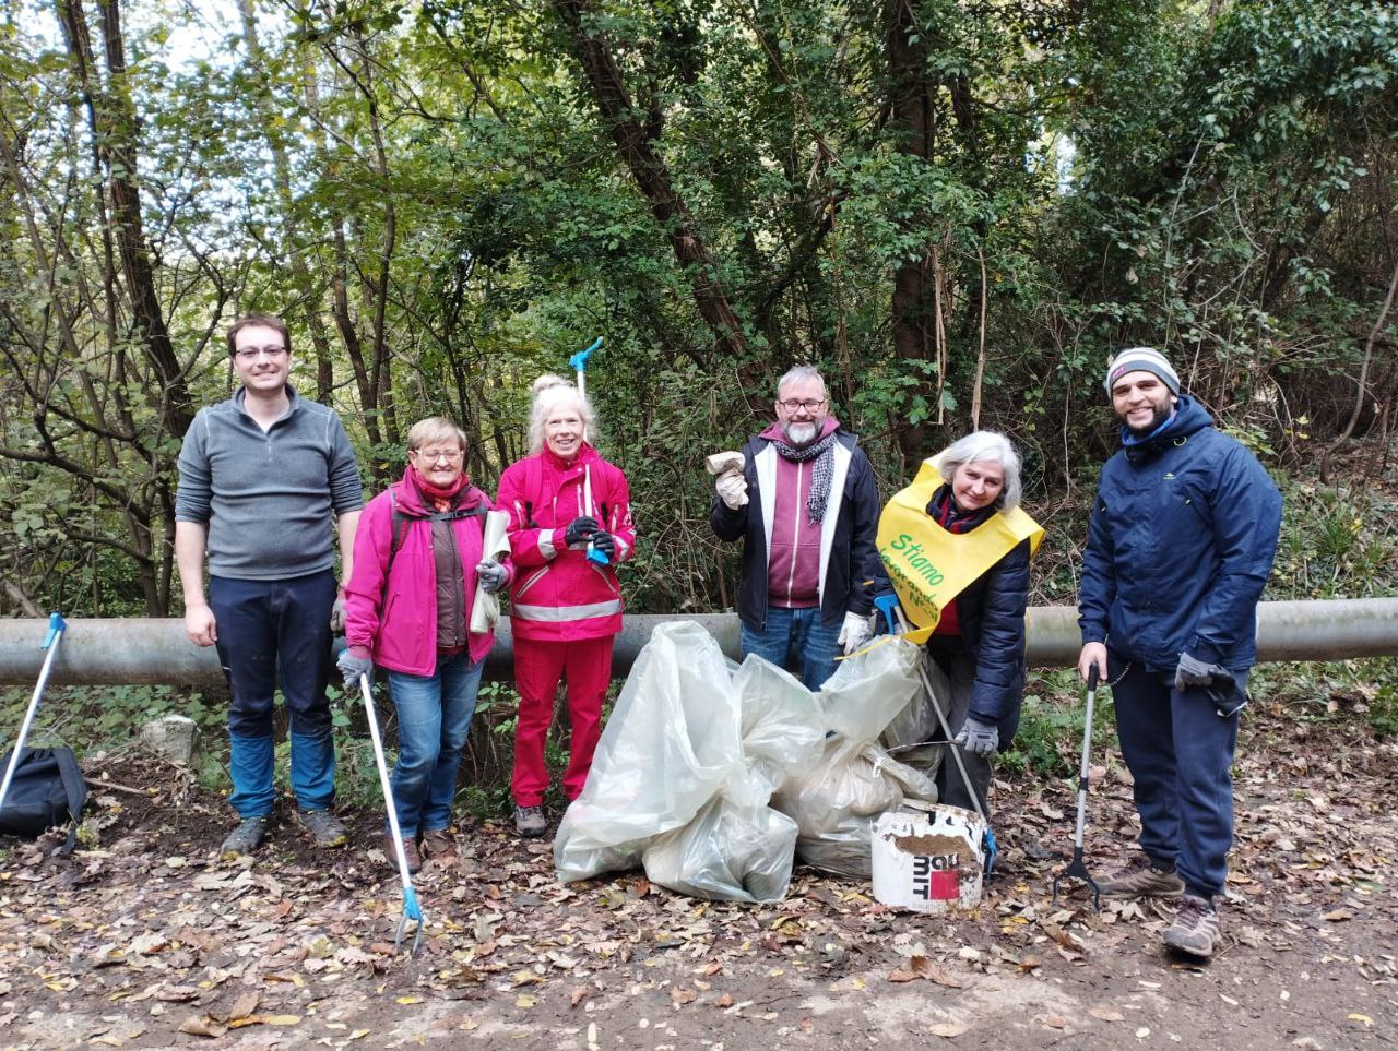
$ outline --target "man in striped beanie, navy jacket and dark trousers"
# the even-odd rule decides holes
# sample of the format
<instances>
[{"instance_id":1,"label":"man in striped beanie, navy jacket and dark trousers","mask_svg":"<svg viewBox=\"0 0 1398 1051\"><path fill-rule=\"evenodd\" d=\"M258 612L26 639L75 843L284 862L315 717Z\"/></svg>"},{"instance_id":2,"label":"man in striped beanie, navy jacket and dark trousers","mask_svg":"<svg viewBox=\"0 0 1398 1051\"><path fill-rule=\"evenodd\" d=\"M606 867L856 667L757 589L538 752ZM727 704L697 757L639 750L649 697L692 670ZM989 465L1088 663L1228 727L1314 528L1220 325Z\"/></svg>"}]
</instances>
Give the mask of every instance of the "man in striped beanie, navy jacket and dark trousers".
<instances>
[{"instance_id":1,"label":"man in striped beanie, navy jacket and dark trousers","mask_svg":"<svg viewBox=\"0 0 1398 1051\"><path fill-rule=\"evenodd\" d=\"M1144 857L1099 885L1123 897L1183 894L1165 943L1206 959L1233 843L1237 713L1282 498L1257 458L1180 394L1160 352L1123 351L1106 387L1123 449L1097 482L1078 669L1111 683Z\"/></svg>"}]
</instances>

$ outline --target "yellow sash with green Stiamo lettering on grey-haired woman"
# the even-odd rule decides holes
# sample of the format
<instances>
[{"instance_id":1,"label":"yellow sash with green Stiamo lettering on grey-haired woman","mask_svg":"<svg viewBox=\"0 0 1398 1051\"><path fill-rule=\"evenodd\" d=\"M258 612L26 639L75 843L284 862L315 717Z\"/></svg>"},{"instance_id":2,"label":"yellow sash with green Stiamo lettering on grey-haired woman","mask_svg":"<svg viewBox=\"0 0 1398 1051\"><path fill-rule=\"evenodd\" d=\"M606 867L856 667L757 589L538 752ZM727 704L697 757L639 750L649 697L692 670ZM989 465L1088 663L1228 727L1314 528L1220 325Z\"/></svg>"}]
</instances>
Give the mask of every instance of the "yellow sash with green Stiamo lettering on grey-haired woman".
<instances>
[{"instance_id":1,"label":"yellow sash with green Stiamo lettering on grey-haired woman","mask_svg":"<svg viewBox=\"0 0 1398 1051\"><path fill-rule=\"evenodd\" d=\"M927 514L941 485L941 471L924 460L913 484L888 502L878 520L878 553L903 612L917 625L906 637L918 644L969 584L1026 539L1033 555L1044 537L1043 526L1019 507L990 516L970 532L948 532Z\"/></svg>"}]
</instances>

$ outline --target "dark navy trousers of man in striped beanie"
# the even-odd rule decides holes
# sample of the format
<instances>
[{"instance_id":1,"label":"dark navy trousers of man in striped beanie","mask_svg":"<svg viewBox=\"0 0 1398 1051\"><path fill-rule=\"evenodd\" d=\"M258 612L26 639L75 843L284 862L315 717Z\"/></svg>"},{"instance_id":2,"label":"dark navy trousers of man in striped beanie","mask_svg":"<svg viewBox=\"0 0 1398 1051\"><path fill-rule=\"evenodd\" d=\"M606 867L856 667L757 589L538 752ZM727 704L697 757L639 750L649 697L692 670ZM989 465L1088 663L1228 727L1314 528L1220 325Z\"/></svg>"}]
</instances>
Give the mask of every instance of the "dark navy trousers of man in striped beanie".
<instances>
[{"instance_id":1,"label":"dark navy trousers of man in striped beanie","mask_svg":"<svg viewBox=\"0 0 1398 1051\"><path fill-rule=\"evenodd\" d=\"M1188 893L1223 893L1233 846L1233 749L1237 716L1219 718L1202 689L1174 689L1173 672L1151 672L1109 655L1121 756L1135 778L1141 848L1176 868ZM1120 681L1117 676L1120 675ZM1234 672L1239 689L1247 672Z\"/></svg>"}]
</instances>

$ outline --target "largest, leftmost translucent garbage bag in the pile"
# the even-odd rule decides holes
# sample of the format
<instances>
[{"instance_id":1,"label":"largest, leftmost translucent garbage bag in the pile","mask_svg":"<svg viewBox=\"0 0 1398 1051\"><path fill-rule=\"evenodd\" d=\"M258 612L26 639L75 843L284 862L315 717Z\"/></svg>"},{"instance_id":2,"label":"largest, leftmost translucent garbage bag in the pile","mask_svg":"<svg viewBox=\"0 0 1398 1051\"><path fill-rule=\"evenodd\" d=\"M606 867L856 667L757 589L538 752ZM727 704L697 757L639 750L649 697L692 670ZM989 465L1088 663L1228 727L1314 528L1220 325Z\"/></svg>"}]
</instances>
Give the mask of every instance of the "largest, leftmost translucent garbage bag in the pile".
<instances>
[{"instance_id":1,"label":"largest, leftmost translucent garbage bag in the pile","mask_svg":"<svg viewBox=\"0 0 1398 1051\"><path fill-rule=\"evenodd\" d=\"M741 778L741 711L719 643L692 621L656 628L554 840L561 880L633 868L656 836Z\"/></svg>"}]
</instances>

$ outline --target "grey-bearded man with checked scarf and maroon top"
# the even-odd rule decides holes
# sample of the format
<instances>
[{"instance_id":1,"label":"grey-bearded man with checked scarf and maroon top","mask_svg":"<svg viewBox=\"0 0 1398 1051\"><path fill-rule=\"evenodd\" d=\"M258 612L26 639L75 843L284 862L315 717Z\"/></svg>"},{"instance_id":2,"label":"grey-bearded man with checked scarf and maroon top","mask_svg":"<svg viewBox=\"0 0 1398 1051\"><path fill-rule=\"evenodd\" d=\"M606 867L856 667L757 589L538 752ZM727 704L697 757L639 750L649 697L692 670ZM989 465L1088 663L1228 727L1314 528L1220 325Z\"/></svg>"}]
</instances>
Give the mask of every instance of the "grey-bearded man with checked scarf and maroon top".
<instances>
[{"instance_id":1,"label":"grey-bearded man with checked scarf and maroon top","mask_svg":"<svg viewBox=\"0 0 1398 1051\"><path fill-rule=\"evenodd\" d=\"M709 524L720 539L744 538L742 653L781 668L798 657L815 690L842 648L868 640L874 594L888 587L874 545L878 488L854 435L829 415L819 372L783 376L776 412L742 447L742 474L719 477Z\"/></svg>"}]
</instances>

